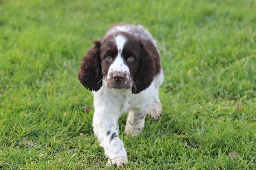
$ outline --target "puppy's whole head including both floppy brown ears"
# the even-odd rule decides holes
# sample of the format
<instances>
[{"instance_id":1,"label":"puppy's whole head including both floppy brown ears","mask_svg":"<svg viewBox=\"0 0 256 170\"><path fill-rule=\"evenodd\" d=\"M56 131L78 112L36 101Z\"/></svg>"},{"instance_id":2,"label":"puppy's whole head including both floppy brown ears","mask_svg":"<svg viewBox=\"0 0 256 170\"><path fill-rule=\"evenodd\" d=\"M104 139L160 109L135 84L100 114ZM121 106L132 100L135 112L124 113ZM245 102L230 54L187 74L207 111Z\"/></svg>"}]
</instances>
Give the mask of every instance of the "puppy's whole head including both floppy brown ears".
<instances>
[{"instance_id":1,"label":"puppy's whole head including both floppy brown ears","mask_svg":"<svg viewBox=\"0 0 256 170\"><path fill-rule=\"evenodd\" d=\"M138 94L149 87L156 71L154 56L132 34L118 32L94 41L78 73L82 85L97 91L102 82L108 89L129 89ZM104 81L103 81L104 80Z\"/></svg>"}]
</instances>

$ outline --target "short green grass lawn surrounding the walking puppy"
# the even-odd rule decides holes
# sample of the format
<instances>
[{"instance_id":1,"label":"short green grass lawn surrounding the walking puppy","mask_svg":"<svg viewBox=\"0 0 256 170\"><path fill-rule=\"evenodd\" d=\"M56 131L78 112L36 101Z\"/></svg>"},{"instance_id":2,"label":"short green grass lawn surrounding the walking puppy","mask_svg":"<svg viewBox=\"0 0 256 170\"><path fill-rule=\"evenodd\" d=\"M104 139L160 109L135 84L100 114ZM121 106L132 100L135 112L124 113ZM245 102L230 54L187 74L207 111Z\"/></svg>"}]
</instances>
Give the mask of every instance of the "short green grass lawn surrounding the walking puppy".
<instances>
[{"instance_id":1,"label":"short green grass lawn surrounding the walking puppy","mask_svg":"<svg viewBox=\"0 0 256 170\"><path fill-rule=\"evenodd\" d=\"M256 169L256 1L0 0L0 169L102 169L91 41L119 22L158 41L163 116L120 137L127 169ZM235 151L239 157L231 158Z\"/></svg>"}]
</instances>

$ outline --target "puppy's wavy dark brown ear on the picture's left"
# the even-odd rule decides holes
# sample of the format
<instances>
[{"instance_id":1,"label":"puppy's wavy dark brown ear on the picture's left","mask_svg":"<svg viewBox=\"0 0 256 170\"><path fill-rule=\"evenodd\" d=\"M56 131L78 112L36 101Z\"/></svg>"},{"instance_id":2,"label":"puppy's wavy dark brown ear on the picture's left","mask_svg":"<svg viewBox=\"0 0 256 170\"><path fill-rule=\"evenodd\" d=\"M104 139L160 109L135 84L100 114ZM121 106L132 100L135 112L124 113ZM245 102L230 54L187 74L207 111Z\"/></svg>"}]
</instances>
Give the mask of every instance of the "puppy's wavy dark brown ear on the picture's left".
<instances>
[{"instance_id":1,"label":"puppy's wavy dark brown ear on the picture's left","mask_svg":"<svg viewBox=\"0 0 256 170\"><path fill-rule=\"evenodd\" d=\"M100 47L100 40L94 41L94 46L82 59L81 67L78 72L80 83L91 91L98 91L102 86L103 77L101 72Z\"/></svg>"}]
</instances>

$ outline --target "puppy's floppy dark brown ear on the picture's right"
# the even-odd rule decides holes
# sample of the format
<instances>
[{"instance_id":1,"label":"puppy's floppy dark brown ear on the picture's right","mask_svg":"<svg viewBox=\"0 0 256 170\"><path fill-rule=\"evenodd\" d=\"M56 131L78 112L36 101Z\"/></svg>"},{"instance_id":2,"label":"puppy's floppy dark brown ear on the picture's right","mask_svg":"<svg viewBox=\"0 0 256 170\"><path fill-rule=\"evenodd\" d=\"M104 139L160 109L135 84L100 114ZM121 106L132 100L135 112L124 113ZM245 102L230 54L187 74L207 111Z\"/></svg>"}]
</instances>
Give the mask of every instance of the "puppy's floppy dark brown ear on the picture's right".
<instances>
[{"instance_id":1,"label":"puppy's floppy dark brown ear on the picture's right","mask_svg":"<svg viewBox=\"0 0 256 170\"><path fill-rule=\"evenodd\" d=\"M138 94L139 92L146 90L152 83L156 72L155 56L153 56L153 54L146 48L143 41L139 40L139 45L141 60L138 73L133 78L133 94Z\"/></svg>"}]
</instances>

